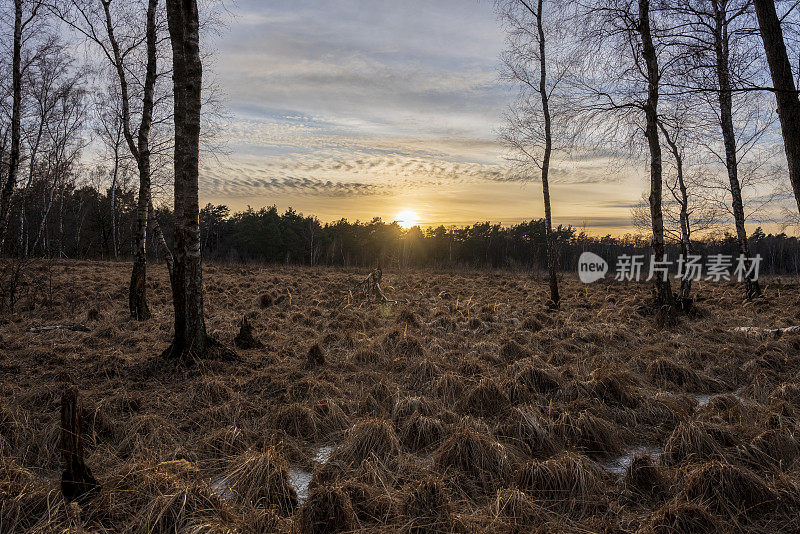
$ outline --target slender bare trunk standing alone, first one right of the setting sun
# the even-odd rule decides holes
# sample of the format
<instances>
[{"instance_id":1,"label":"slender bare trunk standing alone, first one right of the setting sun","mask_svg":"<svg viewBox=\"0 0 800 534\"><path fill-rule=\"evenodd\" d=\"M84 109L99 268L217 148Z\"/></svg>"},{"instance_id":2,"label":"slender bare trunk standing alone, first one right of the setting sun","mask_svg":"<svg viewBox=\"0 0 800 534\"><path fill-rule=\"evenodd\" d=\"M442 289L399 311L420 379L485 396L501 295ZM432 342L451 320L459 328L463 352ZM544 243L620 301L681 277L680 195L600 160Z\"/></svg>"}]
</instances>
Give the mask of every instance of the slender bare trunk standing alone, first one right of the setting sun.
<instances>
[{"instance_id":1,"label":"slender bare trunk standing alone, first one right of the setting sun","mask_svg":"<svg viewBox=\"0 0 800 534\"><path fill-rule=\"evenodd\" d=\"M553 219L550 211L550 157L553 153L552 123L550 118L550 101L547 95L547 61L545 56L544 23L542 0L539 0L536 14L536 26L539 32L539 95L542 97L542 114L544 115L544 155L542 157L542 195L544 197L545 242L547 254L547 273L550 279L550 300L552 306L558 307L561 297L558 294L558 273L556 272L555 238L553 236Z\"/></svg>"}]
</instances>

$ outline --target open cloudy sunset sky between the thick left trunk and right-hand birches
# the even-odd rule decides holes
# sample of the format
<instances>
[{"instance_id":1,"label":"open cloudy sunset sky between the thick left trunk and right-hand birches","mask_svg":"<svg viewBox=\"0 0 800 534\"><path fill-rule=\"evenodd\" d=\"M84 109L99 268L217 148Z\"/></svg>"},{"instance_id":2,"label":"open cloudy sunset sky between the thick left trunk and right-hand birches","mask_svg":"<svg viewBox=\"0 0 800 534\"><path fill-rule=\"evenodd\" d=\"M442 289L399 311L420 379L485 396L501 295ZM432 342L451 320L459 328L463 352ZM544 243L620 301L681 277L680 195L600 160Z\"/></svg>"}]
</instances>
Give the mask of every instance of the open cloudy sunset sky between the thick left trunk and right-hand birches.
<instances>
[{"instance_id":1,"label":"open cloudy sunset sky between the thick left trunk and right-hand birches","mask_svg":"<svg viewBox=\"0 0 800 534\"><path fill-rule=\"evenodd\" d=\"M208 47L227 154L202 164L203 204L422 226L543 216L540 182L497 140L514 90L491 0L237 0L225 17ZM642 169L551 172L554 224L630 230Z\"/></svg>"}]
</instances>

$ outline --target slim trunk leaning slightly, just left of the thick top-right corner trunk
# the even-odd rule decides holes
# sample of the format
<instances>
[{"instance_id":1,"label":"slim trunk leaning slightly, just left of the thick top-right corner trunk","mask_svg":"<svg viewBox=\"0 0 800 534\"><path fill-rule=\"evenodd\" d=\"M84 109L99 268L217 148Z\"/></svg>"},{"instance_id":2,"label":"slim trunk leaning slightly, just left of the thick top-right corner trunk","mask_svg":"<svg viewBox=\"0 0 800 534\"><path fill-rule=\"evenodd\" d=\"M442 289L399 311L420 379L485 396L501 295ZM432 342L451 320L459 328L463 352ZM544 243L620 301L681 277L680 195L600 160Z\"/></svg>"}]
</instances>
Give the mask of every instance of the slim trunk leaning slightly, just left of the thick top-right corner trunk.
<instances>
[{"instance_id":1,"label":"slim trunk leaning slightly, just left of the thick top-right corner trunk","mask_svg":"<svg viewBox=\"0 0 800 534\"><path fill-rule=\"evenodd\" d=\"M739 252L749 258L750 246L747 243L747 230L744 226L744 205L742 202L742 187L739 183L736 133L733 128L733 92L730 82L727 12L721 8L719 1L714 1L714 52L717 60L716 70L719 83L720 126L722 127L722 139L725 145L725 167L727 168L728 181L730 182L731 206L733 207L733 219L736 224L736 237L739 241ZM758 280L745 277L744 285L748 299L761 295L761 287Z\"/></svg>"}]
</instances>

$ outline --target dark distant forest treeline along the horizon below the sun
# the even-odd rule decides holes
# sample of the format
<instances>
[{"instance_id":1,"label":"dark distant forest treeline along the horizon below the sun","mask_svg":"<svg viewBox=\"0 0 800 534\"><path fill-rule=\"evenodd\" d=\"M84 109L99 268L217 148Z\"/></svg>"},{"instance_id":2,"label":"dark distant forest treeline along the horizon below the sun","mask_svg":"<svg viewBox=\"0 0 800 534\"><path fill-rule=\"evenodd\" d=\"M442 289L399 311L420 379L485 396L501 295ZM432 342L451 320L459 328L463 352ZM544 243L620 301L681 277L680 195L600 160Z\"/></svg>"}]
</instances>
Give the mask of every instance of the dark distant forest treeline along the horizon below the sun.
<instances>
[{"instance_id":1,"label":"dark distant forest treeline along the horizon below the sun","mask_svg":"<svg viewBox=\"0 0 800 534\"><path fill-rule=\"evenodd\" d=\"M136 243L136 197L132 189L118 189L115 209L109 210L111 192L92 186L68 190L54 198L55 209L39 213L32 208L30 218L43 217L42 238L33 256L78 259L129 259ZM155 210L167 244L172 247L172 210ZM200 210L201 247L210 261L259 262L291 265L328 265L371 268L547 268L544 219L514 225L477 222L461 227L401 228L379 218L350 222L341 219L322 223L314 216L289 208L248 208L232 212L227 206L207 204ZM117 235L112 232L116 230ZM9 228L11 243L22 237L18 227ZM649 257L650 241L644 234L593 236L573 226L553 230L557 243L558 267L574 271L584 251L599 254L611 265L623 254ZM149 239L155 239L150 236ZM762 257L761 273L800 273L800 243L785 233L752 232L752 253ZM149 257L163 260L156 243L148 243ZM692 252L701 255L738 256L736 237L730 233L708 234L692 242ZM677 240L667 245L670 258L677 258Z\"/></svg>"}]
</instances>

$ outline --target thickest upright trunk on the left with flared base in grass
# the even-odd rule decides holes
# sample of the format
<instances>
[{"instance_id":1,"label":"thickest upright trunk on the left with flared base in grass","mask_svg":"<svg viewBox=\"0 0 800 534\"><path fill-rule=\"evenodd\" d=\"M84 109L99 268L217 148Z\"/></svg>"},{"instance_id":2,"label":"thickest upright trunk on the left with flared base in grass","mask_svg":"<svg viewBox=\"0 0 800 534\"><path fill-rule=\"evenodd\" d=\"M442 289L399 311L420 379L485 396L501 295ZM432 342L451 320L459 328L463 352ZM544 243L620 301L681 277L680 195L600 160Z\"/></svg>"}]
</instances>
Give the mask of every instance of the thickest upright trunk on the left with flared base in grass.
<instances>
[{"instance_id":1,"label":"thickest upright trunk on the left with flared base in grass","mask_svg":"<svg viewBox=\"0 0 800 534\"><path fill-rule=\"evenodd\" d=\"M175 101L175 337L164 355L185 363L219 344L206 334L198 178L203 65L196 0L167 0Z\"/></svg>"}]
</instances>

